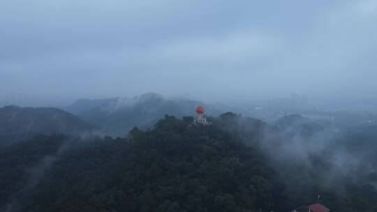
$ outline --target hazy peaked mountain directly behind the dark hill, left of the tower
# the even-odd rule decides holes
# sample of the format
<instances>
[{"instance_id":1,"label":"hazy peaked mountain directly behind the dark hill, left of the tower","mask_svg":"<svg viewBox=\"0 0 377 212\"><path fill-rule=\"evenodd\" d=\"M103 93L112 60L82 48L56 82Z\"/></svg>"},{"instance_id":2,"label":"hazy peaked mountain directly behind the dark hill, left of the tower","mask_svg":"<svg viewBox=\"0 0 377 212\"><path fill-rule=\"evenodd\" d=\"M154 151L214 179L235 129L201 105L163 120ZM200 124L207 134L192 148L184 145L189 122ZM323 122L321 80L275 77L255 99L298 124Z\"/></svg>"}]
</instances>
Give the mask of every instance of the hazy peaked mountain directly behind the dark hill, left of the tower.
<instances>
[{"instance_id":1,"label":"hazy peaked mountain directly behind the dark hill, left of the tower","mask_svg":"<svg viewBox=\"0 0 377 212\"><path fill-rule=\"evenodd\" d=\"M157 93L145 93L134 98L105 100L78 100L66 107L85 121L101 126L106 134L125 135L133 127L150 128L165 114L178 117L195 114L195 107L203 105L195 100L168 99ZM212 105L205 105L207 114L224 112Z\"/></svg>"}]
</instances>

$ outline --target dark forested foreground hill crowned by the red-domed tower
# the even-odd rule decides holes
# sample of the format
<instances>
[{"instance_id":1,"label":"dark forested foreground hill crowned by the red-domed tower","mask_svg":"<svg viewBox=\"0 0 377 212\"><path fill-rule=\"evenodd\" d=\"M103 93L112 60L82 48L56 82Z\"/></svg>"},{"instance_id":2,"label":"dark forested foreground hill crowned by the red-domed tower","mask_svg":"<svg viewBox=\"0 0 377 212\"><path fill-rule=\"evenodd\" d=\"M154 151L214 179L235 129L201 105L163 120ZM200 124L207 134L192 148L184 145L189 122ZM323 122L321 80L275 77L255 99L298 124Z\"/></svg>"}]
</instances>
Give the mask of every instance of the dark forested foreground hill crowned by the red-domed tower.
<instances>
[{"instance_id":1,"label":"dark forested foreground hill crowned by the red-domed tower","mask_svg":"<svg viewBox=\"0 0 377 212\"><path fill-rule=\"evenodd\" d=\"M54 135L15 144L0 151L0 210L275 209L278 186L262 153L219 128L235 117L193 126L193 117L165 116L153 130L134 128L126 138L70 142Z\"/></svg>"}]
</instances>

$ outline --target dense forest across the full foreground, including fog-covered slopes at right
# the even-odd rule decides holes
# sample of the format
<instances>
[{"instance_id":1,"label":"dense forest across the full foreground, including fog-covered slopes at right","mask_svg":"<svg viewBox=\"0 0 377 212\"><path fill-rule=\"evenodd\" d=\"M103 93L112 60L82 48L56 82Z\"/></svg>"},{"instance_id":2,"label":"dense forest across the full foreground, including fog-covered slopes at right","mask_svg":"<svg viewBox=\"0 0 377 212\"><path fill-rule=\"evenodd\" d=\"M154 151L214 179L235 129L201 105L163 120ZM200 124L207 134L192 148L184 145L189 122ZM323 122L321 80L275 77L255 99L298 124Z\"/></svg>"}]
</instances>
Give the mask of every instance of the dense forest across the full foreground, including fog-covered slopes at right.
<instances>
[{"instance_id":1,"label":"dense forest across the full foreground, including fog-covered slopes at right","mask_svg":"<svg viewBox=\"0 0 377 212\"><path fill-rule=\"evenodd\" d=\"M329 138L316 123L284 119L226 113L197 126L165 116L124 138L36 136L0 149L0 210L291 211L320 202L377 211L375 128Z\"/></svg>"}]
</instances>

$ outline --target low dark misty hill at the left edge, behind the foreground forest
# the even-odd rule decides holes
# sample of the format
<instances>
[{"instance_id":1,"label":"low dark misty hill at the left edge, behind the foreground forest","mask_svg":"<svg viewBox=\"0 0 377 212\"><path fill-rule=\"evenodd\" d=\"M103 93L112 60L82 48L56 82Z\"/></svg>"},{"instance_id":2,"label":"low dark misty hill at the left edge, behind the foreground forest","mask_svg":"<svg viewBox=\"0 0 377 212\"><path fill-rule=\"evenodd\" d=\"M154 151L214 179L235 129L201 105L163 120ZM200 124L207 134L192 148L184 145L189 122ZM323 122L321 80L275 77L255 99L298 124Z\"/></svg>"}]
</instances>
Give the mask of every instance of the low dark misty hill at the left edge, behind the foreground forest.
<instances>
[{"instance_id":1,"label":"low dark misty hill at the left edge, behind the foreground forest","mask_svg":"<svg viewBox=\"0 0 377 212\"><path fill-rule=\"evenodd\" d=\"M0 108L0 144L53 133L81 134L96 129L79 117L52 107Z\"/></svg>"}]
</instances>

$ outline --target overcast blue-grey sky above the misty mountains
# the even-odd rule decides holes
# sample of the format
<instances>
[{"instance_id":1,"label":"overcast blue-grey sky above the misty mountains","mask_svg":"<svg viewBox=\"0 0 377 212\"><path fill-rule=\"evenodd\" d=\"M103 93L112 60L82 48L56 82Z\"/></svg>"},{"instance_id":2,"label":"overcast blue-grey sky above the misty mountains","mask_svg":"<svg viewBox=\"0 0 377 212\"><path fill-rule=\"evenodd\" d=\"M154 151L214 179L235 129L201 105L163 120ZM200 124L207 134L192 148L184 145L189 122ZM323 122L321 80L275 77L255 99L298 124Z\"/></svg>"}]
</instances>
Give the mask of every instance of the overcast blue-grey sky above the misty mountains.
<instances>
[{"instance_id":1,"label":"overcast blue-grey sky above the misty mountains","mask_svg":"<svg viewBox=\"0 0 377 212\"><path fill-rule=\"evenodd\" d=\"M376 98L377 0L1 0L0 100Z\"/></svg>"}]
</instances>

